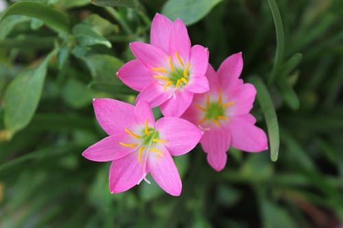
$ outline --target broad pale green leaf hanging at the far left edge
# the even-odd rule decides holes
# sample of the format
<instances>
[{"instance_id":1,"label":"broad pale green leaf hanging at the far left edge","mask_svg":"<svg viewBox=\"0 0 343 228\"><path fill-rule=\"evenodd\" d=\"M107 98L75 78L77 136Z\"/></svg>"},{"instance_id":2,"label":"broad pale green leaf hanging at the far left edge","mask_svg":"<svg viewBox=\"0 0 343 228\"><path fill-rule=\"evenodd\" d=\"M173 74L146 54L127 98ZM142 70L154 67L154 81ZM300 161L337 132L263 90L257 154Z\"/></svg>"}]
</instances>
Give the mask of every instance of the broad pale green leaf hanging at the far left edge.
<instances>
[{"instance_id":1,"label":"broad pale green leaf hanging at the far left edge","mask_svg":"<svg viewBox=\"0 0 343 228\"><path fill-rule=\"evenodd\" d=\"M51 51L38 67L22 71L8 86L4 119L10 134L26 127L34 116L43 90L47 64L57 51Z\"/></svg>"}]
</instances>

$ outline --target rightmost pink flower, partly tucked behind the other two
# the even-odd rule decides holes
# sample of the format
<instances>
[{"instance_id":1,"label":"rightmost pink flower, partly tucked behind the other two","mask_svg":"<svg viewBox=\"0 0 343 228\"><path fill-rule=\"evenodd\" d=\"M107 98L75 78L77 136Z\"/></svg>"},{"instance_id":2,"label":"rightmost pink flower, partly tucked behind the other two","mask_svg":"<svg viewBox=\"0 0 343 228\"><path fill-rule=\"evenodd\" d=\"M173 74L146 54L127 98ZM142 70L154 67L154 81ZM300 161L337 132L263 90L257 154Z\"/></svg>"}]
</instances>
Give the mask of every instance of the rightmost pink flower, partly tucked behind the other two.
<instances>
[{"instance_id":1,"label":"rightmost pink flower, partly tucked behind the other two","mask_svg":"<svg viewBox=\"0 0 343 228\"><path fill-rule=\"evenodd\" d=\"M242 68L241 53L230 55L217 73L209 65L206 73L209 92L197 94L182 115L204 131L200 143L207 161L217 171L224 168L230 145L249 152L268 149L264 131L255 126L256 119L249 114L256 89L238 79Z\"/></svg>"}]
</instances>

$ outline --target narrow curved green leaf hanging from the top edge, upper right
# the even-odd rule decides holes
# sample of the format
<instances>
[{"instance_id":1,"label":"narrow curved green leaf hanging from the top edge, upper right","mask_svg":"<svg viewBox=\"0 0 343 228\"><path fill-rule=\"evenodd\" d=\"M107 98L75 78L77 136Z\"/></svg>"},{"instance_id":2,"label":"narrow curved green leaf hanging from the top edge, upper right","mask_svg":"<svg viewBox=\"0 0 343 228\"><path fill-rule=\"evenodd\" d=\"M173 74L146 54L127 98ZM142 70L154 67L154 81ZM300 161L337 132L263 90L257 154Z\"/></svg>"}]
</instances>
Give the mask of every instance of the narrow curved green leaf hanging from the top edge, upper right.
<instances>
[{"instance_id":1,"label":"narrow curved green leaf hanging from the top edge, upper right","mask_svg":"<svg viewBox=\"0 0 343 228\"><path fill-rule=\"evenodd\" d=\"M272 81L274 81L275 75L279 73L283 61L283 53L285 51L285 32L283 31L281 14L276 1L268 0L268 3L270 6L270 10L272 10L276 30L276 53L274 58L274 66L269 78L269 83L272 83Z\"/></svg>"}]
</instances>

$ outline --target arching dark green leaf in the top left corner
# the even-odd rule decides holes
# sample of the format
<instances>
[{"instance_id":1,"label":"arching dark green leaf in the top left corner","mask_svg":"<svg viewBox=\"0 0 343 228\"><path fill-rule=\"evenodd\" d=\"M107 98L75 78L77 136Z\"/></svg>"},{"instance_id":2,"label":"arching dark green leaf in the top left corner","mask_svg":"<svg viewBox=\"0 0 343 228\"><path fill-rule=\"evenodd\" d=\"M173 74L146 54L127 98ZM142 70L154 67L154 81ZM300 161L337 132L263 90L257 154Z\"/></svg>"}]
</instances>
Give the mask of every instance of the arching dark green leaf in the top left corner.
<instances>
[{"instance_id":1,"label":"arching dark green leaf in the top left corner","mask_svg":"<svg viewBox=\"0 0 343 228\"><path fill-rule=\"evenodd\" d=\"M69 32L69 18L67 14L59 12L48 5L33 1L20 1L10 5L1 16L0 21L10 15L32 16L44 21L45 24L55 31L62 33Z\"/></svg>"}]
</instances>

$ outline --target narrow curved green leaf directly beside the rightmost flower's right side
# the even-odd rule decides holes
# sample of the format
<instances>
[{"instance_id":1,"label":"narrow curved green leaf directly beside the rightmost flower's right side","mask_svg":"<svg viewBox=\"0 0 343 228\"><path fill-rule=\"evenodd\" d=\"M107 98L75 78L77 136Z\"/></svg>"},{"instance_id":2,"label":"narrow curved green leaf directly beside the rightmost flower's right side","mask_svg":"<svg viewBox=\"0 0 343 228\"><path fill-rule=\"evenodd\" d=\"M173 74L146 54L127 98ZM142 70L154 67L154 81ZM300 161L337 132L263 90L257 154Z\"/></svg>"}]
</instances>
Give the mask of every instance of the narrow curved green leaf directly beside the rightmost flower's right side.
<instances>
[{"instance_id":1,"label":"narrow curved green leaf directly beside the rightmost flower's right side","mask_svg":"<svg viewBox=\"0 0 343 228\"><path fill-rule=\"evenodd\" d=\"M279 123L276 116L275 108L272 103L272 98L268 92L267 87L258 76L250 77L249 79L257 89L257 100L261 105L262 112L265 117L265 123L268 128L268 138L270 144L270 159L276 162L279 155L280 136L279 136Z\"/></svg>"}]
</instances>

